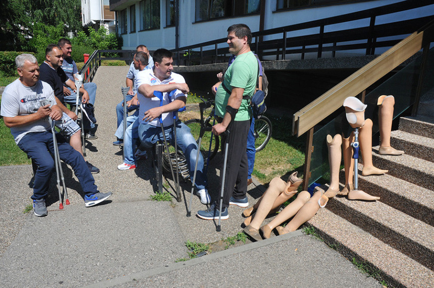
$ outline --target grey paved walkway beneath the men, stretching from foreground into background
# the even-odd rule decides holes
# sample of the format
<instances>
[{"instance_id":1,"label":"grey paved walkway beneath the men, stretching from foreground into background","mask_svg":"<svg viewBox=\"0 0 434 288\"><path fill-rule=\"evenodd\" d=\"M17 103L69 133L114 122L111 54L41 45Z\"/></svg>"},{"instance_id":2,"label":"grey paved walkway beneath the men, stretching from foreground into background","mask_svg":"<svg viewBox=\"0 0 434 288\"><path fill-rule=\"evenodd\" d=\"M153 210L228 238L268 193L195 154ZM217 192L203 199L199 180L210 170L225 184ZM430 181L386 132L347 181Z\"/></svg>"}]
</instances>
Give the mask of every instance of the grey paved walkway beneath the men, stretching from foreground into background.
<instances>
[{"instance_id":1,"label":"grey paved walkway beneath the men, stretching from foreground into background","mask_svg":"<svg viewBox=\"0 0 434 288\"><path fill-rule=\"evenodd\" d=\"M64 165L71 205L58 209L54 177L48 215L23 214L31 203L31 166L0 167L2 286L381 286L323 242L299 231L176 263L187 257L187 240L212 243L242 231L243 209L230 207L230 217L218 233L214 221L195 216L206 209L197 196L192 216L186 217L191 184L182 183L182 202L155 202L149 200L156 190L149 160L140 160L134 170L117 170L122 151L112 145L115 106L122 99L127 70L100 67L94 79L98 139L86 145L87 160L101 170L94 175L98 189L113 192L108 201L84 207L80 185ZM221 158L218 155L208 169L214 199ZM251 185L249 202L256 202L262 191L260 185Z\"/></svg>"}]
</instances>

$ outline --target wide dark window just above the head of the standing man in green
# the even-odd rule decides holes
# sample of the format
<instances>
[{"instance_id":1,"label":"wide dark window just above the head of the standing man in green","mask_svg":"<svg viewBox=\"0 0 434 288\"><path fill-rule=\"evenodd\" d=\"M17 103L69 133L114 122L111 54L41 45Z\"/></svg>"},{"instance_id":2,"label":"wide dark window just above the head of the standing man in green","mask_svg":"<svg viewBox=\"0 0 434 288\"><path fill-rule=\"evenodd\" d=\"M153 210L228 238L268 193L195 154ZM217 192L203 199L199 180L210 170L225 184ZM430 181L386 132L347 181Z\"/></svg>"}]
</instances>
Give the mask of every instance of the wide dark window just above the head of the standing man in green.
<instances>
[{"instance_id":1,"label":"wide dark window just above the head of the standing man in green","mask_svg":"<svg viewBox=\"0 0 434 288\"><path fill-rule=\"evenodd\" d=\"M196 0L195 20L259 13L260 0Z\"/></svg>"}]
</instances>

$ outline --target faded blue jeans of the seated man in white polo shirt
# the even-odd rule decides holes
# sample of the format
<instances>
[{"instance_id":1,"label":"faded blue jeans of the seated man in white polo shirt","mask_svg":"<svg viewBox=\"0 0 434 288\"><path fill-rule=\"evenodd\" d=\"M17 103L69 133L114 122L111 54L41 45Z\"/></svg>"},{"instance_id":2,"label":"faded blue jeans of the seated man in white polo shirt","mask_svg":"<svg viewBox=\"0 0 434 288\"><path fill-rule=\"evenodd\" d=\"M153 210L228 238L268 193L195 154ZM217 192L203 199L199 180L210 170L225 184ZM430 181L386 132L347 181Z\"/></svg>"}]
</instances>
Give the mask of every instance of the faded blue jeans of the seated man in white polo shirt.
<instances>
[{"instance_id":1,"label":"faded blue jeans of the seated man in white polo shirt","mask_svg":"<svg viewBox=\"0 0 434 288\"><path fill-rule=\"evenodd\" d=\"M175 145L175 136L173 133L173 125L166 127L165 135L173 146ZM155 127L146 123L139 125L139 139L146 148L151 148L156 142L164 141L164 137L160 127ZM176 142L178 148L182 150L186 159L187 166L190 172L190 179L193 181L194 165L196 163L197 155L197 143L193 135L190 133L190 128L181 121L176 122ZM197 190L205 189L206 187L206 175L203 173L203 157L202 153L199 153L199 160L197 162L196 181L195 187Z\"/></svg>"}]
</instances>

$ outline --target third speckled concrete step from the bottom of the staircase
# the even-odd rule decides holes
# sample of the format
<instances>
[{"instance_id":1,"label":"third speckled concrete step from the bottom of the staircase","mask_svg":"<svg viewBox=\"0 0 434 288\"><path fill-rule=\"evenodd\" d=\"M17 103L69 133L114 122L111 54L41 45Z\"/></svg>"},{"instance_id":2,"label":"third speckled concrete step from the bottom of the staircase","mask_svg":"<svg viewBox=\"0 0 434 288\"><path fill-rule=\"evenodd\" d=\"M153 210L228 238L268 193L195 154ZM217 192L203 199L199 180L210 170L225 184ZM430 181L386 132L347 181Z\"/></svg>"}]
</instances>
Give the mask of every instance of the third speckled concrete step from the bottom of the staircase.
<instances>
[{"instance_id":1,"label":"third speckled concrete step from the bottom of the staircase","mask_svg":"<svg viewBox=\"0 0 434 288\"><path fill-rule=\"evenodd\" d=\"M359 164L359 189L381 197L380 201L420 221L434 226L434 191L417 186L402 179L385 175L362 176L363 165ZM341 183L345 183L344 170Z\"/></svg>"}]
</instances>

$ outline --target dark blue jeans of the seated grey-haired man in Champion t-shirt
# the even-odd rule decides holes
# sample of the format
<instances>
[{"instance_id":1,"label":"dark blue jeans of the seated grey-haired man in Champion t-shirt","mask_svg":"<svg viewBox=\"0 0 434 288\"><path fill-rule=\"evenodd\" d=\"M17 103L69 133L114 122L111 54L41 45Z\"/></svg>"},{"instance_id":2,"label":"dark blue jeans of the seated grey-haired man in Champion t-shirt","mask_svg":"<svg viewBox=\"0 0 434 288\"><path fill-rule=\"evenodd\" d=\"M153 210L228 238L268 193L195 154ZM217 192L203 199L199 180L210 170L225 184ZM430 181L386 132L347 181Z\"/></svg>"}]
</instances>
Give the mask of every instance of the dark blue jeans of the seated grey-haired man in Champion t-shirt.
<instances>
[{"instance_id":1,"label":"dark blue jeans of the seated grey-haired man in Champion t-shirt","mask_svg":"<svg viewBox=\"0 0 434 288\"><path fill-rule=\"evenodd\" d=\"M92 195L98 192L95 180L90 174L83 156L74 150L59 133L56 133L56 139L60 158L72 167L84 193ZM48 193L51 173L56 167L49 153L54 153L52 134L51 132L28 133L20 140L18 147L38 165L33 185L33 195L30 198L34 200L44 199Z\"/></svg>"}]
</instances>

